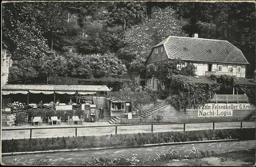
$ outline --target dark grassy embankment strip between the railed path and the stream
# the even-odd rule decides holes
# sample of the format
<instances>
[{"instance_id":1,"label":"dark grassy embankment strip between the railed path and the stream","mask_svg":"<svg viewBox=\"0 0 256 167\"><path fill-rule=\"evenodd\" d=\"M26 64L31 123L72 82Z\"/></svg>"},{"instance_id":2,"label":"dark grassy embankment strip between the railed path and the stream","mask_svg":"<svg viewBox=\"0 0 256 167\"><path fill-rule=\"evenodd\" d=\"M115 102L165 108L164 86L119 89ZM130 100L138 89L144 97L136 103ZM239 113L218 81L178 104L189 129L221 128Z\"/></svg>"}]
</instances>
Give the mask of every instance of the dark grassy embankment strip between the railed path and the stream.
<instances>
[{"instance_id":1,"label":"dark grassy embankment strip between the railed path and the stream","mask_svg":"<svg viewBox=\"0 0 256 167\"><path fill-rule=\"evenodd\" d=\"M23 151L43 151L54 149L82 149L82 148L95 148L95 147L113 147L113 146L140 146L145 144L157 144L162 142L179 142L193 140L199 138L207 140L218 137L218 134L223 135L220 139L224 138L238 138L255 139L255 128L244 129L217 129L199 131L185 131L185 132L157 132L157 133L141 133L141 134L116 134L104 136L83 136L83 137L57 137L57 138L31 138L31 139L11 139L2 140L2 152L23 152ZM222 133L220 133L222 132ZM183 137L191 136L194 137ZM126 137L124 137L126 136ZM164 139L164 136L165 139ZM163 141L164 140L164 141Z\"/></svg>"}]
</instances>

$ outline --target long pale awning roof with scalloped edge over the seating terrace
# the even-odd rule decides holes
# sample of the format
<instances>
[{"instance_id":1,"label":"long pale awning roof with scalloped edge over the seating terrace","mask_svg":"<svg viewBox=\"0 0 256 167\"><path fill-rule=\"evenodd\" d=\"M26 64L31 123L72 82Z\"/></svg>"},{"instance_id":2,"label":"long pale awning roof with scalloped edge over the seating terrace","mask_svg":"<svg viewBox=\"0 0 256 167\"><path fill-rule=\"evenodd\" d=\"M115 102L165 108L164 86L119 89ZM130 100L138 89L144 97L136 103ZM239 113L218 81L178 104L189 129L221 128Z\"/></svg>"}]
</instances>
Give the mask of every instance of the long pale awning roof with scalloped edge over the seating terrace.
<instances>
[{"instance_id":1,"label":"long pale awning roof with scalloped edge over the seating terrace","mask_svg":"<svg viewBox=\"0 0 256 167\"><path fill-rule=\"evenodd\" d=\"M95 94L96 92L110 91L105 85L18 85L5 84L2 86L2 94L27 94L30 93L44 93L44 94Z\"/></svg>"}]
</instances>

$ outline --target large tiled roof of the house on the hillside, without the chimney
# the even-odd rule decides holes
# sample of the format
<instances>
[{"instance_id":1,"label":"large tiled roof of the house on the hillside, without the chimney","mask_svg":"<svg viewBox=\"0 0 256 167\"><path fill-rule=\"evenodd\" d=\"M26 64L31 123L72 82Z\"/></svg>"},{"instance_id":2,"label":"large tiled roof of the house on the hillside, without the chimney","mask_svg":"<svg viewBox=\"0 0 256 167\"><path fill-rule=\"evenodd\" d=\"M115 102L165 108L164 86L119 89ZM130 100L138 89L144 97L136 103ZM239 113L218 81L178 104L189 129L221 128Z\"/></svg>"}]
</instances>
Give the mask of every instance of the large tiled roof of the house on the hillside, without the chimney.
<instances>
[{"instance_id":1,"label":"large tiled roof of the house on the hillside, without the chimney","mask_svg":"<svg viewBox=\"0 0 256 167\"><path fill-rule=\"evenodd\" d=\"M249 64L241 50L226 40L168 36L154 47L160 45L169 59Z\"/></svg>"}]
</instances>

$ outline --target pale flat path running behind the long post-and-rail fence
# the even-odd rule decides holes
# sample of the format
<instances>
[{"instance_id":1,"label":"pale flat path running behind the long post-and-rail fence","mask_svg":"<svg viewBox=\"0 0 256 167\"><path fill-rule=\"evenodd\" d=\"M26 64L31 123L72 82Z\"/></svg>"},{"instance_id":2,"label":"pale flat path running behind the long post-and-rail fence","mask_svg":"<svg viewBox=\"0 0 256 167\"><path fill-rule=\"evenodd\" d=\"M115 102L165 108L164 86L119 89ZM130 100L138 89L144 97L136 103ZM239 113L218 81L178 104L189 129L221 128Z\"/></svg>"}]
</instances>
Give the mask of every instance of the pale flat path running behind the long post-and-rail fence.
<instances>
[{"instance_id":1,"label":"pale flat path running behind the long post-and-rail fence","mask_svg":"<svg viewBox=\"0 0 256 167\"><path fill-rule=\"evenodd\" d=\"M108 126L111 125L106 122L97 123L84 123L83 126ZM48 124L43 124L39 127L31 125L24 125L20 127L2 127L2 129L12 128L48 128L53 127ZM56 127L56 126L54 126ZM92 135L106 135L115 134L115 127L92 127L92 128L79 128L81 125L68 125L67 123L61 123L57 127L71 127L70 129L33 129L32 138L44 138L44 137L62 137L62 136L74 136L75 128L77 127L78 136L92 136ZM240 122L229 123L215 123L215 129L228 129L228 128L240 128ZM243 128L255 128L255 122L243 122ZM205 130L212 129L212 123L200 123L200 124L186 124L185 130ZM166 132L166 131L183 131L183 124L177 125L154 125L154 132ZM151 132L151 125L137 125L137 126L123 126L117 127L117 133L145 133ZM29 138L30 130L14 130L14 131L2 131L2 140L5 139L18 139Z\"/></svg>"}]
</instances>

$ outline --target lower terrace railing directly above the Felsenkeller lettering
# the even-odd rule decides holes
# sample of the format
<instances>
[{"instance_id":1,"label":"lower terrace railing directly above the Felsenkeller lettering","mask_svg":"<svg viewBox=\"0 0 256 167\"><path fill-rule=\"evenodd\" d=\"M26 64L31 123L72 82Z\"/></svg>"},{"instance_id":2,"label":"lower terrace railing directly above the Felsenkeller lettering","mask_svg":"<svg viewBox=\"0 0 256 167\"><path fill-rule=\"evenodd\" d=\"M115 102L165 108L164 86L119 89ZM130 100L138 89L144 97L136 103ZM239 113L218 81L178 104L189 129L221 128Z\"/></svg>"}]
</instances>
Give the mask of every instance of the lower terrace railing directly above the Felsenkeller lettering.
<instances>
[{"instance_id":1,"label":"lower terrace railing directly above the Felsenkeller lettering","mask_svg":"<svg viewBox=\"0 0 256 167\"><path fill-rule=\"evenodd\" d=\"M246 94L215 94L210 102L248 103Z\"/></svg>"}]
</instances>

